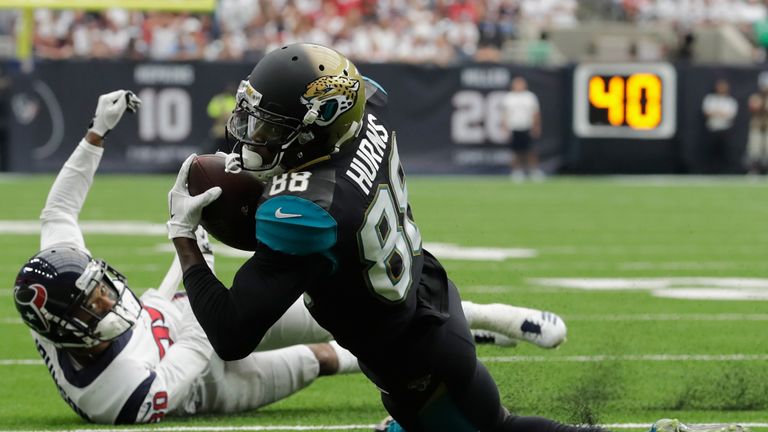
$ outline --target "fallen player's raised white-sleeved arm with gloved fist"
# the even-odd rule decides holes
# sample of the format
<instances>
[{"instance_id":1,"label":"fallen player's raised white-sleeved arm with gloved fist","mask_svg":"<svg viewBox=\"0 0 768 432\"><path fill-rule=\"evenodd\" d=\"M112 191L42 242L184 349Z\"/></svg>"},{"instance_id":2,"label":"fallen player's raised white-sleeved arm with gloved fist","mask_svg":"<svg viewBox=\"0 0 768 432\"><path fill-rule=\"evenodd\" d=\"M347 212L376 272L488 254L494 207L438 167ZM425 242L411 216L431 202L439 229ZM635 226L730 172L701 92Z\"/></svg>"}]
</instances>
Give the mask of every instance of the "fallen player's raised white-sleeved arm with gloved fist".
<instances>
[{"instance_id":1,"label":"fallen player's raised white-sleeved arm with gloved fist","mask_svg":"<svg viewBox=\"0 0 768 432\"><path fill-rule=\"evenodd\" d=\"M104 136L117 125L126 110L134 112L140 104L139 98L126 90L99 97L91 127L64 163L48 193L40 214L40 249L68 244L87 251L77 220L101 162Z\"/></svg>"}]
</instances>

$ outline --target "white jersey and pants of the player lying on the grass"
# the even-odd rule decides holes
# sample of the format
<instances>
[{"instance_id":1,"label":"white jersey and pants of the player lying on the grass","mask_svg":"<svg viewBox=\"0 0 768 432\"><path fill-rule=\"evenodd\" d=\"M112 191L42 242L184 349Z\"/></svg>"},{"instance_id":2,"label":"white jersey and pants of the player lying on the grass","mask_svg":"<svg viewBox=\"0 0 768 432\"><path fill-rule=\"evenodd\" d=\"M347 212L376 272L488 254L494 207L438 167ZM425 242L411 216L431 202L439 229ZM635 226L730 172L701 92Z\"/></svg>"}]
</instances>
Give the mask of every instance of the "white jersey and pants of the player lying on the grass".
<instances>
[{"instance_id":1,"label":"white jersey and pants of the player lying on the grass","mask_svg":"<svg viewBox=\"0 0 768 432\"><path fill-rule=\"evenodd\" d=\"M40 249L76 247L90 255L78 225L103 149L82 140L56 177L40 215ZM212 262L209 262L212 265ZM133 329L83 368L45 338L32 336L62 398L94 423L148 423L166 414L254 409L309 385L319 363L306 346L257 352L235 362L214 355L186 296L173 296L174 261L158 289L140 298ZM329 341L301 299L265 335L263 349Z\"/></svg>"}]
</instances>

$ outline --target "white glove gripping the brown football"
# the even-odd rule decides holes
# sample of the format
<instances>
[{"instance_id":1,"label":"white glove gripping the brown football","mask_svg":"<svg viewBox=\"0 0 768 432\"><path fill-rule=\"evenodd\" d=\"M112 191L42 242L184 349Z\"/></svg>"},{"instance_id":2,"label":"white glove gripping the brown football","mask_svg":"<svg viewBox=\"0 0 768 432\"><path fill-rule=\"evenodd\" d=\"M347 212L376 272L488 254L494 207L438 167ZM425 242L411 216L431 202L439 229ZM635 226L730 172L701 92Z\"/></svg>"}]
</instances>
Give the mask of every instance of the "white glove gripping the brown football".
<instances>
[{"instance_id":1,"label":"white glove gripping the brown football","mask_svg":"<svg viewBox=\"0 0 768 432\"><path fill-rule=\"evenodd\" d=\"M203 207L212 203L221 195L221 188L214 186L200 195L189 195L187 188L187 177L189 176L189 166L192 160L197 156L192 153L181 165L179 175L176 177L176 183L168 192L168 211L171 218L168 220L168 238L175 239L186 237L196 239L195 230L200 225L200 214Z\"/></svg>"}]
</instances>

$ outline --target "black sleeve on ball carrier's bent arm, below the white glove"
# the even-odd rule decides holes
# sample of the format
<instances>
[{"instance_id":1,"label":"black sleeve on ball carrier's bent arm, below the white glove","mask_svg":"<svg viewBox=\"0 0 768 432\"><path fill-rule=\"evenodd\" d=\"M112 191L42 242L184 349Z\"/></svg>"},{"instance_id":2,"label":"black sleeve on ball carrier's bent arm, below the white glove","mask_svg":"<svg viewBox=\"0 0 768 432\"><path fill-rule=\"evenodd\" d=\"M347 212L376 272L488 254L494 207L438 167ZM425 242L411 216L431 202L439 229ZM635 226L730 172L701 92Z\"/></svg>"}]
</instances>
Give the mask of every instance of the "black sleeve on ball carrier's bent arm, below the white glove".
<instances>
[{"instance_id":1,"label":"black sleeve on ball carrier's bent arm, below the white glove","mask_svg":"<svg viewBox=\"0 0 768 432\"><path fill-rule=\"evenodd\" d=\"M264 333L310 284L330 272L320 255L294 256L260 244L227 289L206 265L184 272L195 317L222 360L253 352Z\"/></svg>"}]
</instances>

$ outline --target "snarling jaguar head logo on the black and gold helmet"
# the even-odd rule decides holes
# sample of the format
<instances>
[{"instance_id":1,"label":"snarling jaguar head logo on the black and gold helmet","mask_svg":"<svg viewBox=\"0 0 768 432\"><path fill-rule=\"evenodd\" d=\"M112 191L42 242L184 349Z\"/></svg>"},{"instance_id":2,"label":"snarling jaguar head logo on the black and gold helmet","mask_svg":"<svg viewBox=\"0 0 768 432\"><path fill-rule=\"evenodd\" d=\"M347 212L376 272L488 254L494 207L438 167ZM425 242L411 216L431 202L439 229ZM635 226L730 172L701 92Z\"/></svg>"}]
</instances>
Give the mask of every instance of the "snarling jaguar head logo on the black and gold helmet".
<instances>
[{"instance_id":1,"label":"snarling jaguar head logo on the black and gold helmet","mask_svg":"<svg viewBox=\"0 0 768 432\"><path fill-rule=\"evenodd\" d=\"M308 109L319 106L315 123L326 126L349 111L357 100L360 82L345 76L322 76L307 84L301 103Z\"/></svg>"}]
</instances>

